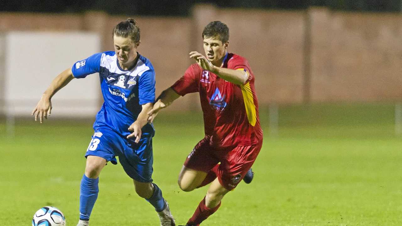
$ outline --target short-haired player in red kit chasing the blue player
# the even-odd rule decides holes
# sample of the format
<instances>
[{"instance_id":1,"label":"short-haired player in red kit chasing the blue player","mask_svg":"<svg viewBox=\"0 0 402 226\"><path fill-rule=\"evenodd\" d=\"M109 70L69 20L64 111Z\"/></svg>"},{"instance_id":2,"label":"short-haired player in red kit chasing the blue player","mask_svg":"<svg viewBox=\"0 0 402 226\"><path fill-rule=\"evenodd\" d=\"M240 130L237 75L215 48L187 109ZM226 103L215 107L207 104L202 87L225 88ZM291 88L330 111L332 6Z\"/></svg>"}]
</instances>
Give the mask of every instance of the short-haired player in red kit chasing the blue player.
<instances>
[{"instance_id":1,"label":"short-haired player in red kit chasing the blue player","mask_svg":"<svg viewBox=\"0 0 402 226\"><path fill-rule=\"evenodd\" d=\"M185 160L178 185L192 191L212 183L186 226L198 226L219 208L224 195L248 174L263 143L250 65L228 53L229 29L224 23L209 23L202 37L206 56L190 52L197 63L162 92L148 113L152 122L160 109L178 97L199 92L205 138Z\"/></svg>"}]
</instances>

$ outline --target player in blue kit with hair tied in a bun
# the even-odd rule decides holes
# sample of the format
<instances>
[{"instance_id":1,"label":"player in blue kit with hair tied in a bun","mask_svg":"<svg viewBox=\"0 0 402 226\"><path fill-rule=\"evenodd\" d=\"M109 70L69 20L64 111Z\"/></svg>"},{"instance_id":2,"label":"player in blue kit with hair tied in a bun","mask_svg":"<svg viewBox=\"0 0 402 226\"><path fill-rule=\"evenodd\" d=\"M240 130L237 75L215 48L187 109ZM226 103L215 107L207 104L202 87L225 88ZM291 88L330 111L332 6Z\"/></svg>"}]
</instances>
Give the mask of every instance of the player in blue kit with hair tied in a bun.
<instances>
[{"instance_id":1,"label":"player in blue kit with hair tied in a bun","mask_svg":"<svg viewBox=\"0 0 402 226\"><path fill-rule=\"evenodd\" d=\"M152 137L155 130L147 113L155 101L155 71L151 62L137 53L140 30L129 18L113 29L115 51L96 53L76 62L59 74L43 93L32 112L35 121L51 113L51 97L73 78L98 72L102 89L102 108L96 115L94 135L86 151L85 173L80 188L80 220L88 226L98 197L100 171L107 162L117 164L133 179L135 191L154 207L161 226L174 226L174 218L162 191L152 183Z\"/></svg>"}]
</instances>

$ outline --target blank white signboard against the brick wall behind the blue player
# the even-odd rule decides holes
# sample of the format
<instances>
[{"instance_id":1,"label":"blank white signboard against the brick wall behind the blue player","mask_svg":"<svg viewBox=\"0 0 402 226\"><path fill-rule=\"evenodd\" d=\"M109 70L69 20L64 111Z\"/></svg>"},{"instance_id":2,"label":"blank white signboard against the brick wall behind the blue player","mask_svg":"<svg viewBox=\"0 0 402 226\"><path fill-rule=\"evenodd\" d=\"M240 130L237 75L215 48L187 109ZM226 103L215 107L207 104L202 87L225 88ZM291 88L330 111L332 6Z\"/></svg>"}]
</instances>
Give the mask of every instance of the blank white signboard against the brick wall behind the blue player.
<instances>
[{"instance_id":1,"label":"blank white signboard against the brick wall behind the blue player","mask_svg":"<svg viewBox=\"0 0 402 226\"><path fill-rule=\"evenodd\" d=\"M14 116L29 116L53 78L100 51L94 33L10 32L3 40L3 111ZM53 96L51 117L94 117L100 99L98 73L73 79Z\"/></svg>"}]
</instances>

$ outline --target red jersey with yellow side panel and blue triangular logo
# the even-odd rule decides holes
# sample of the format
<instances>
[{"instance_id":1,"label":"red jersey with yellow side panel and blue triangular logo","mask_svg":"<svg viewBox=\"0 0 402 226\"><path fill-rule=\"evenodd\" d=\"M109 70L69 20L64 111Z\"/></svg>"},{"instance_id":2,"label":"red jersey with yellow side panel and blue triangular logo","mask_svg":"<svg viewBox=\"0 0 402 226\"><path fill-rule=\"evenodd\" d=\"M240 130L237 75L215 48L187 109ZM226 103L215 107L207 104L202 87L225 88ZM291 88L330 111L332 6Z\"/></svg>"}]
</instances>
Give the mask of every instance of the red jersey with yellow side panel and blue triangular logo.
<instances>
[{"instance_id":1,"label":"red jersey with yellow side panel and blue triangular logo","mask_svg":"<svg viewBox=\"0 0 402 226\"><path fill-rule=\"evenodd\" d=\"M245 58L228 53L223 68L244 70L248 79L236 85L219 78L198 64L187 68L171 88L180 96L199 92L204 115L205 135L213 146L246 146L263 139L258 117L254 74Z\"/></svg>"}]
</instances>

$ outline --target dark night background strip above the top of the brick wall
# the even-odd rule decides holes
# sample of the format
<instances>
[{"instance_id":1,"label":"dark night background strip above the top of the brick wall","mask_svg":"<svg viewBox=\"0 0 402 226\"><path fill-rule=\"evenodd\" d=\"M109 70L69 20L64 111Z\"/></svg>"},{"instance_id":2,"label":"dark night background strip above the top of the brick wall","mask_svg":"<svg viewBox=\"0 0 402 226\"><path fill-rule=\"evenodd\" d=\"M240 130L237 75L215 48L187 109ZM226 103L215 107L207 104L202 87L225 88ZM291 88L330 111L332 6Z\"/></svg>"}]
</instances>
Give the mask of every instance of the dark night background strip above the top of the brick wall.
<instances>
[{"instance_id":1,"label":"dark night background strip above the top of the brick wall","mask_svg":"<svg viewBox=\"0 0 402 226\"><path fill-rule=\"evenodd\" d=\"M231 8L287 10L306 9L309 6L371 12L400 12L402 9L402 0L3 0L0 1L0 11L80 13L101 10L109 14L188 16L192 6L197 3Z\"/></svg>"}]
</instances>

